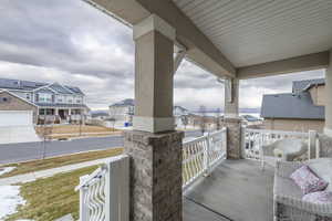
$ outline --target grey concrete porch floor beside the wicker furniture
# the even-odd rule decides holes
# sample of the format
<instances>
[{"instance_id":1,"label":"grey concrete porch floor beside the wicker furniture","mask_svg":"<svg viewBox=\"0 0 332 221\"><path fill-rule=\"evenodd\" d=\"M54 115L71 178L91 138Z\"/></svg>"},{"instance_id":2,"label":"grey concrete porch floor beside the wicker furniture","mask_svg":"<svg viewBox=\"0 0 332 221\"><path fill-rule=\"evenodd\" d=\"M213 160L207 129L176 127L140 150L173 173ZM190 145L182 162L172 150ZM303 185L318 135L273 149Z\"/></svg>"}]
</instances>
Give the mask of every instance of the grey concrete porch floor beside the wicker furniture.
<instances>
[{"instance_id":1,"label":"grey concrete porch floor beside the wicker furniture","mask_svg":"<svg viewBox=\"0 0 332 221\"><path fill-rule=\"evenodd\" d=\"M225 160L184 197L185 221L272 221L273 169Z\"/></svg>"}]
</instances>

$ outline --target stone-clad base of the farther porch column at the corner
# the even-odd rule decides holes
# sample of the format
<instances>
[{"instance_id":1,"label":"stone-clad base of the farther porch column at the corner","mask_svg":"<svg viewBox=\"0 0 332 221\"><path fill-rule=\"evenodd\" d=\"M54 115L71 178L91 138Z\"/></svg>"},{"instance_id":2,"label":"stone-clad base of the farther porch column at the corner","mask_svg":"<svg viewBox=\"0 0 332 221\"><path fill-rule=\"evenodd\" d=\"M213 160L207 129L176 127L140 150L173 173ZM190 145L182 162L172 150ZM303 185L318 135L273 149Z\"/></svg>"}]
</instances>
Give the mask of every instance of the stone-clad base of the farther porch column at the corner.
<instances>
[{"instance_id":1,"label":"stone-clad base of the farther porch column at the corner","mask_svg":"<svg viewBox=\"0 0 332 221\"><path fill-rule=\"evenodd\" d=\"M241 119L225 118L227 127L227 159L241 159Z\"/></svg>"}]
</instances>

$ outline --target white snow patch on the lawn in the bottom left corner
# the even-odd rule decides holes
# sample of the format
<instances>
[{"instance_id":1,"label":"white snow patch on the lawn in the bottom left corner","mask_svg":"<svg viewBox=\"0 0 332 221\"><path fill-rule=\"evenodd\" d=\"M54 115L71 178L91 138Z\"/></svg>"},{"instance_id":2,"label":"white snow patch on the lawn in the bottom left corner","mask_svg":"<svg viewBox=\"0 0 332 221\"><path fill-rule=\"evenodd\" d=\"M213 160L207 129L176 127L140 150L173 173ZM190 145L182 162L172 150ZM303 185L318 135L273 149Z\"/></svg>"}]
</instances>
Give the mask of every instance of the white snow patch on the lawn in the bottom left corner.
<instances>
[{"instance_id":1,"label":"white snow patch on the lawn in the bottom left corner","mask_svg":"<svg viewBox=\"0 0 332 221\"><path fill-rule=\"evenodd\" d=\"M18 206L24 203L20 196L20 186L0 186L0 221L17 212Z\"/></svg>"}]
</instances>

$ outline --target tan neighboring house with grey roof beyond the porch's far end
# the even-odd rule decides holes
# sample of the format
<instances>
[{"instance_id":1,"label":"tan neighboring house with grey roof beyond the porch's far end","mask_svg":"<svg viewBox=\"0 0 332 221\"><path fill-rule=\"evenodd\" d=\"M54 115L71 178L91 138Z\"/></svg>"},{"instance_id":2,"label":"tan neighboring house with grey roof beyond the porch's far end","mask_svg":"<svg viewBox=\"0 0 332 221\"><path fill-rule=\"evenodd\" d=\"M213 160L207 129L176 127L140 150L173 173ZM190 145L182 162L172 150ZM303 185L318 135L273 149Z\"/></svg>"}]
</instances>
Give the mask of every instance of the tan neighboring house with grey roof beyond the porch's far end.
<instances>
[{"instance_id":1,"label":"tan neighboring house with grey roof beyond the porch's far end","mask_svg":"<svg viewBox=\"0 0 332 221\"><path fill-rule=\"evenodd\" d=\"M263 95L263 127L277 130L323 131L324 104L324 78L293 82L292 93Z\"/></svg>"}]
</instances>

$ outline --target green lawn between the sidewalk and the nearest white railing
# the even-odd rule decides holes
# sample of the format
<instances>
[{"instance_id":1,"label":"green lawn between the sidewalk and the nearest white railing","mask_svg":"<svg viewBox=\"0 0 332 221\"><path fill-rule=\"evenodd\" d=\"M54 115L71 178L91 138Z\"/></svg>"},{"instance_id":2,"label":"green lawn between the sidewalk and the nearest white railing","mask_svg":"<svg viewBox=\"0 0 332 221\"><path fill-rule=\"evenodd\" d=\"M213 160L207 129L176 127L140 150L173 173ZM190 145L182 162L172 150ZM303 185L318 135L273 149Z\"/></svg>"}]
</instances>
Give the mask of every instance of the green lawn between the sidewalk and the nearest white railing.
<instances>
[{"instance_id":1,"label":"green lawn between the sidewalk and the nearest white railing","mask_svg":"<svg viewBox=\"0 0 332 221\"><path fill-rule=\"evenodd\" d=\"M77 220L80 198L74 188L79 185L81 176L91 173L96 168L97 166L87 167L20 185L21 196L27 202L6 221L19 219L53 221L69 213Z\"/></svg>"}]
</instances>

